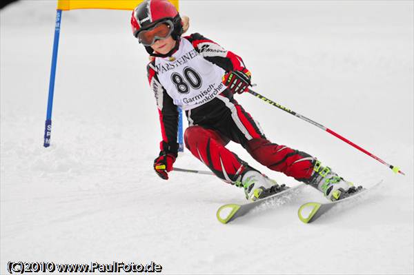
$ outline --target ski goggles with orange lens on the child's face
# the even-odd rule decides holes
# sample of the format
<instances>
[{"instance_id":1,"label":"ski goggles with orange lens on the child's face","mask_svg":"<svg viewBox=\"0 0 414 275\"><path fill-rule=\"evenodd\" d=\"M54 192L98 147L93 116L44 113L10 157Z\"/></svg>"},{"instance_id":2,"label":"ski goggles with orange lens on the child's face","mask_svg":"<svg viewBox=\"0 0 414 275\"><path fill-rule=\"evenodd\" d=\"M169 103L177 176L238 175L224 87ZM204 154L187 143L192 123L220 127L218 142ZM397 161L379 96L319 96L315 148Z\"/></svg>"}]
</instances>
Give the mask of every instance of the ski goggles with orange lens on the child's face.
<instances>
[{"instance_id":1,"label":"ski goggles with orange lens on the child's face","mask_svg":"<svg viewBox=\"0 0 414 275\"><path fill-rule=\"evenodd\" d=\"M162 21L152 28L141 30L136 37L139 40L139 43L149 47L154 45L157 40L164 40L170 37L173 30L174 24L172 21Z\"/></svg>"}]
</instances>

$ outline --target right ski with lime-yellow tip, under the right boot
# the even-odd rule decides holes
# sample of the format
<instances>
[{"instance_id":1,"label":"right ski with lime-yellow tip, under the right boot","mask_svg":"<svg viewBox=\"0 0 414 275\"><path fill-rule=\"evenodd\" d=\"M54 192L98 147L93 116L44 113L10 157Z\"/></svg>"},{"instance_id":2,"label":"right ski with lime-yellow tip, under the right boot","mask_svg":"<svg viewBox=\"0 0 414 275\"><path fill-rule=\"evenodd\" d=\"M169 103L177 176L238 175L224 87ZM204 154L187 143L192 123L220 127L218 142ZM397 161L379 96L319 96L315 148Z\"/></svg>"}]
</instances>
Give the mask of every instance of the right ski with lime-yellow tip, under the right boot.
<instances>
[{"instance_id":1,"label":"right ski with lime-yellow tip, under the right boot","mask_svg":"<svg viewBox=\"0 0 414 275\"><path fill-rule=\"evenodd\" d=\"M383 181L380 181L379 183L376 183L375 185L373 185L373 187L369 189L362 189L361 191L353 194L352 196L348 196L347 198L344 198L339 201L333 201L328 203L304 203L301 207L299 207L299 210L297 211L297 216L299 216L299 220L301 220L304 223L312 223L336 205L355 200L355 198L358 198L362 194L366 194L367 191L372 190L373 188L380 185L382 182ZM306 215L306 213L308 214Z\"/></svg>"}]
</instances>

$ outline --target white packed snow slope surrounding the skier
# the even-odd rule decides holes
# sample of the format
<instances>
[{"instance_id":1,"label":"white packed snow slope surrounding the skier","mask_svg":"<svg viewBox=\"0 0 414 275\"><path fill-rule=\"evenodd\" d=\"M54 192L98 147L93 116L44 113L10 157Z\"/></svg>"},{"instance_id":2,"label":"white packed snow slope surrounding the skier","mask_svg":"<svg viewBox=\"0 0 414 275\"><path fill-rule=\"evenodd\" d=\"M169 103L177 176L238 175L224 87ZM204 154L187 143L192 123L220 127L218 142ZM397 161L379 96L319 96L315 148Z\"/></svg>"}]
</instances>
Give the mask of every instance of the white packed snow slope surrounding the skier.
<instances>
[{"instance_id":1,"label":"white packed snow slope surrounding the skier","mask_svg":"<svg viewBox=\"0 0 414 275\"><path fill-rule=\"evenodd\" d=\"M406 176L256 99L237 99L268 139L380 188L306 225L303 192L223 225L244 193L213 176L152 170L161 139L147 54L130 12L63 12L52 145L43 129L55 1L1 17L1 263L155 261L166 274L413 274L413 2L181 1L189 32L244 58L255 90L346 136ZM298 183L262 167L279 183ZM189 152L177 167L206 170Z\"/></svg>"}]
</instances>

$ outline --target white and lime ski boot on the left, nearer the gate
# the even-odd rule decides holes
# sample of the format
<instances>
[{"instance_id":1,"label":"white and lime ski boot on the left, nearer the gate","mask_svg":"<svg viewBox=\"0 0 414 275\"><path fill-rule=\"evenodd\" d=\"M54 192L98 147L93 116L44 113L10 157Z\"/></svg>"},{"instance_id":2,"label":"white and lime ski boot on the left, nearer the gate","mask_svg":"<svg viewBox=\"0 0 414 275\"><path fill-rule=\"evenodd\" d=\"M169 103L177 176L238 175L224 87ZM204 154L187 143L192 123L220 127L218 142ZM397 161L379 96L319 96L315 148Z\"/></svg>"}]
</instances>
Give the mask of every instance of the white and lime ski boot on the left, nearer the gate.
<instances>
[{"instance_id":1,"label":"white and lime ski boot on the left, nearer the gate","mask_svg":"<svg viewBox=\"0 0 414 275\"><path fill-rule=\"evenodd\" d=\"M249 170L244 173L241 180L237 181L235 185L243 187L246 199L251 201L257 201L260 198L266 198L266 196L287 189L284 184L278 185L275 180L269 179L266 175L260 174L256 170Z\"/></svg>"}]
</instances>

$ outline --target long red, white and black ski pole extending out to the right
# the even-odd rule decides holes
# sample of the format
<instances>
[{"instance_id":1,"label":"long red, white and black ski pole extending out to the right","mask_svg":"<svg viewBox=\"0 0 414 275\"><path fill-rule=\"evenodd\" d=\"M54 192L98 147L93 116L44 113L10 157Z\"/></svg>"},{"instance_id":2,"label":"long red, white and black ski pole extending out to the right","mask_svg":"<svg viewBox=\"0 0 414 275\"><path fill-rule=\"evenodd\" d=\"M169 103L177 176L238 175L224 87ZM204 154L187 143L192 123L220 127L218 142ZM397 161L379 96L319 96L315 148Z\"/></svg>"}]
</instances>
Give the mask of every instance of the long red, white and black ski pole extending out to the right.
<instances>
[{"instance_id":1,"label":"long red, white and black ski pole extending out to the right","mask_svg":"<svg viewBox=\"0 0 414 275\"><path fill-rule=\"evenodd\" d=\"M307 121L308 123L311 123L311 124L315 125L317 128L320 128L320 129L324 130L325 132L328 132L329 134L333 134L333 136L336 136L338 139L341 139L342 141L345 141L349 145L357 148L357 150L364 152L368 156L371 156L373 159L376 159L377 161L380 161L380 163L388 166L388 168L393 170L393 172L395 174L400 173L400 174L405 175L404 172L402 172L399 167L386 163L385 161L383 161L379 157L375 156L374 154L371 154L370 152L368 152L364 148L359 147L358 145L356 145L355 143L353 143L352 141L350 141L348 139L345 139L344 136L341 136L340 134L337 134L333 130L331 130L329 128L326 128L324 125L319 124L319 123L313 121L312 119L308 119L306 116L302 116L302 114L298 114L297 112L294 112L293 110L290 110L289 108L286 108L286 107L280 105L279 103L276 103L275 101L271 101L270 99L266 98L265 96L262 96L262 94L258 94L257 92L255 92L253 90L249 89L248 93L253 94L257 98L262 99L266 103L269 103L269 104L279 108L280 110L284 110L285 112L288 112L289 114L293 114L294 116L298 117L299 119L303 119L304 121Z\"/></svg>"}]
</instances>

